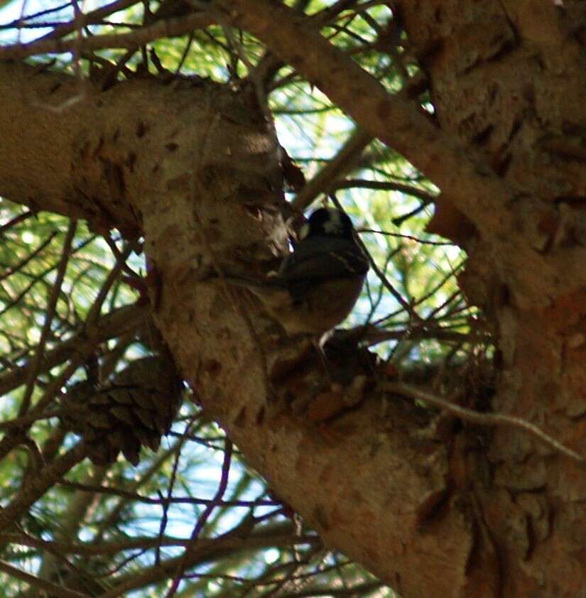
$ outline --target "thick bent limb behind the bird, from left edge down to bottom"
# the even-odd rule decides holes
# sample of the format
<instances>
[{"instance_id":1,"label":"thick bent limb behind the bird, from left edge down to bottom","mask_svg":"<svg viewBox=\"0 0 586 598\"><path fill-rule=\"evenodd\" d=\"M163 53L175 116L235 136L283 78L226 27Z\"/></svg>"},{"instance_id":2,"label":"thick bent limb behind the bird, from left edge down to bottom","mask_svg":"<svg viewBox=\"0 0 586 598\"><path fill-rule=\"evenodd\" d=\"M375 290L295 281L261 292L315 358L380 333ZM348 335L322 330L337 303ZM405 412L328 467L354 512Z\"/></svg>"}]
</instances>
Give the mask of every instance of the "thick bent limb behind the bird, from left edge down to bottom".
<instances>
[{"instance_id":1,"label":"thick bent limb behind the bird, from left edge down to bottom","mask_svg":"<svg viewBox=\"0 0 586 598\"><path fill-rule=\"evenodd\" d=\"M63 81L55 75L52 85L53 75L19 65L0 68L6 71L0 82L10 81L0 89L6 126L16 120L11 107L33 118L22 115L20 99L29 87L38 89L36 77L45 93ZM473 545L467 509L455 506L422 527L445 499L447 475L445 447L416 432L425 418L399 401L381 420L380 396L359 391L364 406L320 433L303 408L291 408L309 403L323 387L321 365L307 344L275 337L258 306L221 281L197 282L212 266L259 268L283 251L278 152L254 95L200 82L135 80L109 92L87 90L67 117L43 111L48 101L38 97L36 122L59 130L60 164L50 184L33 178L35 205L87 217L94 227L144 231L148 262L158 272L151 293L158 297L158 325L197 399L251 465L326 543L406 596L430 594L438 580L445 580L439 587L447 595L454 579L442 576L446 567L461 585ZM23 174L0 177L1 192L26 202L33 195L27 168L51 170L55 158L44 138L36 143L27 136L28 121L21 121L21 136L11 126L11 149L21 160L3 158L0 172L20 168ZM26 143L22 150L19 139ZM354 355L342 367L348 384L363 369ZM349 393L345 388L339 398Z\"/></svg>"}]
</instances>

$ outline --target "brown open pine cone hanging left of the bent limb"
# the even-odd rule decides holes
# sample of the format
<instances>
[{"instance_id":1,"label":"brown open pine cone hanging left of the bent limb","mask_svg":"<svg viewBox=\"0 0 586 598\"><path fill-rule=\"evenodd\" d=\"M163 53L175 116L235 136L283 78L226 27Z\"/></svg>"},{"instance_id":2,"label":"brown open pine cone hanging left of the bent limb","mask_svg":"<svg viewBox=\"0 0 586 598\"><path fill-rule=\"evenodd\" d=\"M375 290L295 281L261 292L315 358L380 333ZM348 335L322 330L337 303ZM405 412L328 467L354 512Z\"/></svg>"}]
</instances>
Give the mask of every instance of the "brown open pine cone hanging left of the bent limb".
<instances>
[{"instance_id":1,"label":"brown open pine cone hanging left of the bent limb","mask_svg":"<svg viewBox=\"0 0 586 598\"><path fill-rule=\"evenodd\" d=\"M169 359L137 359L112 381L72 386L63 398L69 413L61 422L91 445L94 464L113 463L121 451L136 465L141 446L158 450L161 436L170 430L181 406L181 388Z\"/></svg>"}]
</instances>

